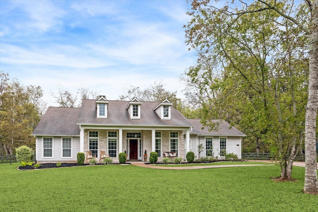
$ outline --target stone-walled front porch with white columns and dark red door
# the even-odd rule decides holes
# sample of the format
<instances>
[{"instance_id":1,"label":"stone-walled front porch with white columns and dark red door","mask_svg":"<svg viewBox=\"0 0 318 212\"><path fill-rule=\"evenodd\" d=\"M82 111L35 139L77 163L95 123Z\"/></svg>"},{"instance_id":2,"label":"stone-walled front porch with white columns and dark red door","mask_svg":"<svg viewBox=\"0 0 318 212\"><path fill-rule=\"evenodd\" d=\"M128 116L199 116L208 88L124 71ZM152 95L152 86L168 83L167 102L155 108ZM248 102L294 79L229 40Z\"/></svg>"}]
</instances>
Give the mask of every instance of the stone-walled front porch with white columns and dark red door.
<instances>
[{"instance_id":1,"label":"stone-walled front porch with white columns and dark red door","mask_svg":"<svg viewBox=\"0 0 318 212\"><path fill-rule=\"evenodd\" d=\"M144 161L147 151L147 161L150 152L158 153L158 161L162 160L163 152L176 152L185 160L186 149L183 139L183 129L87 129L83 127L80 134L80 149L92 151L99 159L100 151L105 151L118 162L118 154L125 152L127 160ZM189 132L189 129L187 130ZM189 137L188 137L189 138ZM190 147L190 140L189 140ZM188 150L189 151L189 150Z\"/></svg>"}]
</instances>

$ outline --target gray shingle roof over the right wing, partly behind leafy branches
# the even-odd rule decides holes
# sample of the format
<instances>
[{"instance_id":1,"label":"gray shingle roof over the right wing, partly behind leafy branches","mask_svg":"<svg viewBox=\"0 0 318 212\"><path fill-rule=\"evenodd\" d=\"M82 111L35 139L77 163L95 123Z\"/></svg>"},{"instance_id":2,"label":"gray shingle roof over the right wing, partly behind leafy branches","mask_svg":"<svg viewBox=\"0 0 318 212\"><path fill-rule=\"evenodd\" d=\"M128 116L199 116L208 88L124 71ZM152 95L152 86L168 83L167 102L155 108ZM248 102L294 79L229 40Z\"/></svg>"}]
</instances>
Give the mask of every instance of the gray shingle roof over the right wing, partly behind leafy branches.
<instances>
[{"instance_id":1,"label":"gray shingle roof over the right wing, partly behind leafy branches","mask_svg":"<svg viewBox=\"0 0 318 212\"><path fill-rule=\"evenodd\" d=\"M225 120L214 119L211 120L213 123L218 123L218 130L212 130L209 132L207 126L202 130L203 124L200 123L201 119L188 119L195 127L192 128L191 134L202 134L202 135L239 135L245 136L244 133L236 129L235 127L230 127L230 124Z\"/></svg>"}]
</instances>

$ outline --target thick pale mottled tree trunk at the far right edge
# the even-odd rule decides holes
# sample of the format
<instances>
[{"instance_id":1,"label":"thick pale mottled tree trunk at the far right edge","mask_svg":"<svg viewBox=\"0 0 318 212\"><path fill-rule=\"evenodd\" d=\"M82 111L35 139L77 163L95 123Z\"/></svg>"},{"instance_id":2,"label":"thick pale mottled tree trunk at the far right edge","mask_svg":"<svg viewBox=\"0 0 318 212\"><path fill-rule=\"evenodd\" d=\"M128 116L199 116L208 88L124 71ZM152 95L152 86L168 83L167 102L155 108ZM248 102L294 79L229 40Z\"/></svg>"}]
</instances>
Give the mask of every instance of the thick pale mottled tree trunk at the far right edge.
<instances>
[{"instance_id":1,"label":"thick pale mottled tree trunk at the far right edge","mask_svg":"<svg viewBox=\"0 0 318 212\"><path fill-rule=\"evenodd\" d=\"M305 116L305 184L304 193L318 194L316 159L316 118L318 107L318 0L311 5L309 35L309 87Z\"/></svg>"}]
</instances>

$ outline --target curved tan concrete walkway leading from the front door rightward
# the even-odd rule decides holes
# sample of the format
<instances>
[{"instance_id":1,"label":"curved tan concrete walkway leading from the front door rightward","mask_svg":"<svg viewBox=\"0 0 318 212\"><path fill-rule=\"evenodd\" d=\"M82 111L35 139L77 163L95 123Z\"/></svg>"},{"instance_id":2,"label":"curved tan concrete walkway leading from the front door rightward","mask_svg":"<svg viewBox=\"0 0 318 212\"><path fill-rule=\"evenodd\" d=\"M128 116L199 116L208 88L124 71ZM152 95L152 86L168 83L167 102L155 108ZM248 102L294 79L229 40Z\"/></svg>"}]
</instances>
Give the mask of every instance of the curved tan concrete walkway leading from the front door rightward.
<instances>
[{"instance_id":1,"label":"curved tan concrete walkway leading from the front door rightward","mask_svg":"<svg viewBox=\"0 0 318 212\"><path fill-rule=\"evenodd\" d=\"M238 164L238 165L211 165L211 166L181 166L181 167L168 167L168 166L154 166L145 164L144 162L132 162L131 165L144 167L144 168L156 168L156 169L200 169L200 168L224 168L224 167L243 167L243 166L272 166L273 164Z\"/></svg>"}]
</instances>

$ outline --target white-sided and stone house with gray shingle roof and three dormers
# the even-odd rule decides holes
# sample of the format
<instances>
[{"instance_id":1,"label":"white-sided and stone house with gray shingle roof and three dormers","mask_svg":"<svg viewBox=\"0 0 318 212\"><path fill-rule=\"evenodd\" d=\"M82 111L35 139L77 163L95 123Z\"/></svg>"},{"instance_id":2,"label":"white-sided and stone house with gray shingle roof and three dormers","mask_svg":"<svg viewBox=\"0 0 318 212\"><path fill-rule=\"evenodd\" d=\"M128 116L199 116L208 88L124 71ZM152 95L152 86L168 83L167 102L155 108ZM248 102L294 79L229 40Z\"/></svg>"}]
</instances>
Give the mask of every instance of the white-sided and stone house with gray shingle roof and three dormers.
<instances>
[{"instance_id":1,"label":"white-sided and stone house with gray shingle roof and three dormers","mask_svg":"<svg viewBox=\"0 0 318 212\"><path fill-rule=\"evenodd\" d=\"M232 142L235 142L239 144L235 152L240 156L239 138L243 133L238 134L232 127L224 129L227 133L224 135L208 134L199 129L197 123L199 120L187 119L174 109L168 99L162 102L142 102L137 98L114 101L99 96L96 100L83 99L81 108L49 107L32 135L36 138L36 160L39 162L75 162L77 153L86 151L92 151L97 157L100 151L105 151L114 161L125 151L128 160L143 160L145 150L148 155L156 151L159 160L164 151L176 152L186 159L186 153L196 153L201 138L209 136L216 146L221 136L228 136L226 150L234 151ZM228 124L222 125L226 126Z\"/></svg>"}]
</instances>

